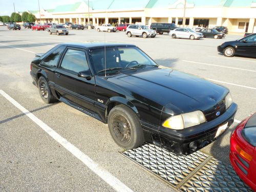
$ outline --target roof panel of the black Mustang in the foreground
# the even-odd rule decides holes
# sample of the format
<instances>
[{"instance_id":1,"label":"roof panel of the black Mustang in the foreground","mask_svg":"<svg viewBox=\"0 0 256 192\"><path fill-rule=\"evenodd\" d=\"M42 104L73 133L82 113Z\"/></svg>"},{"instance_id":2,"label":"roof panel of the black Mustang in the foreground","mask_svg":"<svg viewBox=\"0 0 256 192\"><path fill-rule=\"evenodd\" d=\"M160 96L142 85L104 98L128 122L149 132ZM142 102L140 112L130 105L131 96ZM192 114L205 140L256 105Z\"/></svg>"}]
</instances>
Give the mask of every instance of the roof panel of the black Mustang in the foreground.
<instances>
[{"instance_id":1,"label":"roof panel of the black Mustang in the foreground","mask_svg":"<svg viewBox=\"0 0 256 192\"><path fill-rule=\"evenodd\" d=\"M70 43L63 43L60 45L70 46L70 47L78 47L78 48L88 48L88 49L98 49L98 48L104 48L106 47L136 47L132 44L121 44L117 42L94 42L94 41L88 41L88 42L70 42Z\"/></svg>"}]
</instances>

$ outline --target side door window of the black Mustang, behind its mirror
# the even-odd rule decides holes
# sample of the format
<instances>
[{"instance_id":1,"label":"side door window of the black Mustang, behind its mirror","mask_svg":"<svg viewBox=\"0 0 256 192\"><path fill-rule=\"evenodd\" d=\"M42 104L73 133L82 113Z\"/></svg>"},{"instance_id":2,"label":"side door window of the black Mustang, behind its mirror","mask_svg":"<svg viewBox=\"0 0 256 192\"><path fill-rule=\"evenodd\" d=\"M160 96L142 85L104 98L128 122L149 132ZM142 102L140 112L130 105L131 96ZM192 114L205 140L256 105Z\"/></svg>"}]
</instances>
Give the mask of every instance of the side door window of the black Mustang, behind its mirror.
<instances>
[{"instance_id":1,"label":"side door window of the black Mustang, behind its mirror","mask_svg":"<svg viewBox=\"0 0 256 192\"><path fill-rule=\"evenodd\" d=\"M76 73L89 70L86 53L80 50L68 49L62 59L60 69L69 70Z\"/></svg>"}]
</instances>

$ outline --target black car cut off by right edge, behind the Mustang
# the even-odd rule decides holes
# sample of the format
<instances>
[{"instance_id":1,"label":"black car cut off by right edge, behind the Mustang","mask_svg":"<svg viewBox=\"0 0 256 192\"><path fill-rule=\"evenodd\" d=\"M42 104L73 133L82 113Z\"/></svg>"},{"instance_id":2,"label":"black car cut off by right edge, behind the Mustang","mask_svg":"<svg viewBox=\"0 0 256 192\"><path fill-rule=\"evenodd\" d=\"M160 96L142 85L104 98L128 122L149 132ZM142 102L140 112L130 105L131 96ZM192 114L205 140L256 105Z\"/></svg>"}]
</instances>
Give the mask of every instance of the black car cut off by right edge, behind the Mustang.
<instances>
[{"instance_id":1,"label":"black car cut off by right edge, behind the Mustang","mask_svg":"<svg viewBox=\"0 0 256 192\"><path fill-rule=\"evenodd\" d=\"M224 42L218 46L218 51L226 57L234 55L256 57L256 33L238 40Z\"/></svg>"}]
</instances>

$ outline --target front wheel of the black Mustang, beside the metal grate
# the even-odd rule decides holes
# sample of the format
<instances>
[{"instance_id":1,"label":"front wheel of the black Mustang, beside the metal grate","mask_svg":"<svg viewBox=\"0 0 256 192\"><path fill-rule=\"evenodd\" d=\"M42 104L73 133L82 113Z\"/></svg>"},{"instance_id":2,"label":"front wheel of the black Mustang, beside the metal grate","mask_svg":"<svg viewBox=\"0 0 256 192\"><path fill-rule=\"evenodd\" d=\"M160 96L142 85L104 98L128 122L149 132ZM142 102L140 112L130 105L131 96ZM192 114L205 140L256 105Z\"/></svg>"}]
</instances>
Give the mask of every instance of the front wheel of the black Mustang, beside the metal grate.
<instances>
[{"instance_id":1,"label":"front wheel of the black Mustang, beside the metal grate","mask_svg":"<svg viewBox=\"0 0 256 192\"><path fill-rule=\"evenodd\" d=\"M138 116L125 105L115 106L109 113L108 126L113 140L130 150L144 143L144 135Z\"/></svg>"}]
</instances>

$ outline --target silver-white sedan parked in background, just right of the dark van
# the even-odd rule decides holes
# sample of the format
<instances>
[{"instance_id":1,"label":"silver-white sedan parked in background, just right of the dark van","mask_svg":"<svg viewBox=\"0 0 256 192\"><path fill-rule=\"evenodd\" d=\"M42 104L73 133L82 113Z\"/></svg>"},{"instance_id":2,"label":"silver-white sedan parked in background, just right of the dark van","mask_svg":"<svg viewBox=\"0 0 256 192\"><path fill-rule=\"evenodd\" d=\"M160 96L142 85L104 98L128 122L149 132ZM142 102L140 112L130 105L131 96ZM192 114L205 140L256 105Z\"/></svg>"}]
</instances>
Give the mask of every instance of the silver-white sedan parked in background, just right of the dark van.
<instances>
[{"instance_id":1,"label":"silver-white sedan parked in background, just right of the dark van","mask_svg":"<svg viewBox=\"0 0 256 192\"><path fill-rule=\"evenodd\" d=\"M174 30L170 30L169 36L173 38L187 38L187 39L200 39L203 38L204 35L200 32L196 32L190 28L176 28Z\"/></svg>"}]
</instances>

